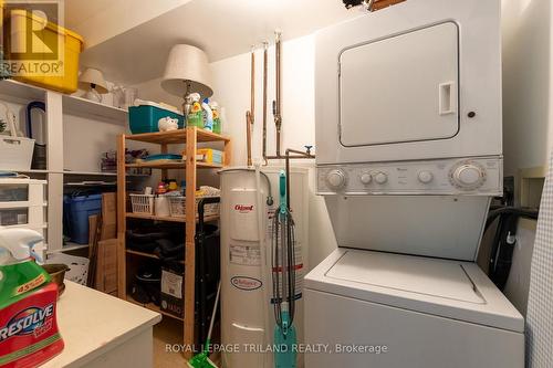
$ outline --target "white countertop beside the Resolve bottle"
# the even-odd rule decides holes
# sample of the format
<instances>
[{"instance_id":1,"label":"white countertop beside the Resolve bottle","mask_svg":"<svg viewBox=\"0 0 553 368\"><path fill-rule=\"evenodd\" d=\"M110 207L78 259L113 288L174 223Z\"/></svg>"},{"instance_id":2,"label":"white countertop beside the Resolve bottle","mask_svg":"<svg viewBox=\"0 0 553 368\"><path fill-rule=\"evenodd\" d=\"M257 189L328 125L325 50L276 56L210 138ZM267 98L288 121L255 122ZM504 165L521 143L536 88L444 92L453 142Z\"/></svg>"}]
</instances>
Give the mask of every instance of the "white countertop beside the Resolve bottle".
<instances>
[{"instance_id":1,"label":"white countertop beside the Resolve bottle","mask_svg":"<svg viewBox=\"0 0 553 368\"><path fill-rule=\"evenodd\" d=\"M82 367L152 328L161 315L65 281L58 301L58 326L65 348L41 367Z\"/></svg>"}]
</instances>

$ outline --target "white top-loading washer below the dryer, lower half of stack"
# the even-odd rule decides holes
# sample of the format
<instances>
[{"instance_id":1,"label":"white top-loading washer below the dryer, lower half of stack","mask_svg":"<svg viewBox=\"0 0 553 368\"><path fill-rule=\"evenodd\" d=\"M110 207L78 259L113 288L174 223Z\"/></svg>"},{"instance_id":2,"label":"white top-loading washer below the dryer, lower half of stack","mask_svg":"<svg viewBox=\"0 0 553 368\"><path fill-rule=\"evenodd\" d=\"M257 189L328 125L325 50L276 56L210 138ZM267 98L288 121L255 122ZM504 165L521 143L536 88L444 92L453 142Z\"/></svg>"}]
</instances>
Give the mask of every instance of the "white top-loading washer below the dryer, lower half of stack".
<instances>
[{"instance_id":1,"label":"white top-loading washer below the dryer, lower half of stack","mask_svg":"<svg viewBox=\"0 0 553 368\"><path fill-rule=\"evenodd\" d=\"M305 303L306 341L328 345L306 367L524 365L522 316L471 262L341 248L305 277Z\"/></svg>"}]
</instances>

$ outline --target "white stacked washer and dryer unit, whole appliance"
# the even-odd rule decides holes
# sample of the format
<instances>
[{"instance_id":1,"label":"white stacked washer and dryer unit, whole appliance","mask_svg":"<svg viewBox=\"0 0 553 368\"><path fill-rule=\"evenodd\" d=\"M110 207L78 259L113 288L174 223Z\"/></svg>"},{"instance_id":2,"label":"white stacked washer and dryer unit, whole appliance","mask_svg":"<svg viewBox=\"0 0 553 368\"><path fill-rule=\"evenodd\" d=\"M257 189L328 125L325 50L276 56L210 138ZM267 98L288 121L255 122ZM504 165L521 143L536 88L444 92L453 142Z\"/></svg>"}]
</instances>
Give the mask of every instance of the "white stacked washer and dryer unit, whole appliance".
<instances>
[{"instance_id":1,"label":"white stacked washer and dryer unit, whole appliance","mask_svg":"<svg viewBox=\"0 0 553 368\"><path fill-rule=\"evenodd\" d=\"M338 249L304 280L307 368L520 368L474 263L502 194L500 0L407 0L316 35L317 191Z\"/></svg>"}]
</instances>

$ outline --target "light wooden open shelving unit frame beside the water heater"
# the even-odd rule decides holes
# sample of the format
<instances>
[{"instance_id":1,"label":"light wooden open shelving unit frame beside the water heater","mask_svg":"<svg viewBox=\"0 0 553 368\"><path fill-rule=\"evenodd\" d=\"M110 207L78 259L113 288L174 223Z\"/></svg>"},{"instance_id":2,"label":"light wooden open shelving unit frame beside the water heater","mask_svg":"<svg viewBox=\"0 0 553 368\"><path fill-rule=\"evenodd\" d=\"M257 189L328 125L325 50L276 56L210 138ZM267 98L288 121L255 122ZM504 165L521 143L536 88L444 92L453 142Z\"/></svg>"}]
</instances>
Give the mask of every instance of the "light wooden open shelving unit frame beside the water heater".
<instances>
[{"instance_id":1,"label":"light wooden open shelving unit frame beside the water heater","mask_svg":"<svg viewBox=\"0 0 553 368\"><path fill-rule=\"evenodd\" d=\"M127 140L135 140L148 144L160 145L163 154L169 153L169 145L186 145L186 160L182 162L140 162L134 165L125 164L125 147ZM225 144L225 165L210 165L196 161L198 143L223 143ZM196 174L198 169L218 169L230 164L231 159L231 141L230 138L211 133L197 127L187 127L185 129L166 132L166 133L148 133L138 135L121 135L117 141L117 236L119 240L119 249L117 254L118 260L118 296L128 302L142 305L146 308L163 313L171 318L176 318L170 314L161 312L154 304L140 304L126 295L127 291L127 256L155 257L154 254L127 250L125 244L126 221L127 219L138 220L155 220L179 222L186 227L185 239L185 280L184 280L184 344L192 345L195 338L195 283L196 283ZM167 170L180 169L186 174L186 218L167 218L149 214L137 214L127 212L127 193L126 193L126 170L129 168L152 168L161 170L161 177L167 178ZM207 221L217 220L218 217L206 219ZM188 357L187 357L188 358Z\"/></svg>"}]
</instances>

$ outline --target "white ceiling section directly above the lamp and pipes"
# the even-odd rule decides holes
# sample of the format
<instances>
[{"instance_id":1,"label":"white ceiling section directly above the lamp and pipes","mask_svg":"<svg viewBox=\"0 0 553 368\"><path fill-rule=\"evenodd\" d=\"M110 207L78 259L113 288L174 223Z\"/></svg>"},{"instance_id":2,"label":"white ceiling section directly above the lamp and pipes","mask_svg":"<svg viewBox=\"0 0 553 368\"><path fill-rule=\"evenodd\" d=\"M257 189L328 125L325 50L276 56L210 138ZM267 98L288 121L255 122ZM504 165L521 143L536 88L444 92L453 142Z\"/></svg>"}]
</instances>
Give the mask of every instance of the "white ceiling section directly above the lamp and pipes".
<instances>
[{"instance_id":1,"label":"white ceiling section directly above the lamp and pipes","mask_svg":"<svg viewBox=\"0 0 553 368\"><path fill-rule=\"evenodd\" d=\"M83 9L94 12L98 6ZM289 40L359 14L341 0L192 0L86 49L82 64L103 70L111 81L136 84L161 76L177 43L197 45L215 62L273 41L275 29Z\"/></svg>"}]
</instances>

